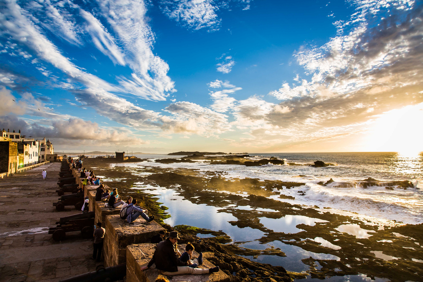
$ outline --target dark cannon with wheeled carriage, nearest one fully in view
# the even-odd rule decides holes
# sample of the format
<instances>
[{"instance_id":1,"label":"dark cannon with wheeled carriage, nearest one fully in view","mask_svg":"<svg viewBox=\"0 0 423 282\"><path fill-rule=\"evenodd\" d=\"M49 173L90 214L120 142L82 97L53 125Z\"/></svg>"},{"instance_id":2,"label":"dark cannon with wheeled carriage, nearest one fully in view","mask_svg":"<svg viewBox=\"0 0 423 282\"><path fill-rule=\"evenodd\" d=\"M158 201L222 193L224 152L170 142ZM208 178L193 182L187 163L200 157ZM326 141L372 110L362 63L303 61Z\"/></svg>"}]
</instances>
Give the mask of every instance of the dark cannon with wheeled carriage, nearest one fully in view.
<instances>
[{"instance_id":1,"label":"dark cannon with wheeled carriage, nearest one fully in view","mask_svg":"<svg viewBox=\"0 0 423 282\"><path fill-rule=\"evenodd\" d=\"M94 226L94 211L60 217L57 226L49 228L53 240L63 241L67 232L81 231L84 238L91 238Z\"/></svg>"}]
</instances>

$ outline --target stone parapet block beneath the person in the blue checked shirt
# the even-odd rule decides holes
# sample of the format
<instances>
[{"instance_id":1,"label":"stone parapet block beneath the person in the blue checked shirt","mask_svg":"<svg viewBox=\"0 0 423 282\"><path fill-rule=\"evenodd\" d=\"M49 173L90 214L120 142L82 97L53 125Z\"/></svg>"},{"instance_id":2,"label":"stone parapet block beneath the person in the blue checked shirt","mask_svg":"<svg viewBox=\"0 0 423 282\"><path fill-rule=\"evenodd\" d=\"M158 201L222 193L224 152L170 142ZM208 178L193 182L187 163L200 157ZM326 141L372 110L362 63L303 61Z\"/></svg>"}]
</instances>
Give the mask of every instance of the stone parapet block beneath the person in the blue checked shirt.
<instances>
[{"instance_id":1,"label":"stone parapet block beneath the person in the blue checked shirt","mask_svg":"<svg viewBox=\"0 0 423 282\"><path fill-rule=\"evenodd\" d=\"M106 216L106 234L104 235L104 265L115 266L126 262L126 246L147 243L151 237L164 228L154 220L146 222L138 218L129 224L119 215Z\"/></svg>"}]
</instances>

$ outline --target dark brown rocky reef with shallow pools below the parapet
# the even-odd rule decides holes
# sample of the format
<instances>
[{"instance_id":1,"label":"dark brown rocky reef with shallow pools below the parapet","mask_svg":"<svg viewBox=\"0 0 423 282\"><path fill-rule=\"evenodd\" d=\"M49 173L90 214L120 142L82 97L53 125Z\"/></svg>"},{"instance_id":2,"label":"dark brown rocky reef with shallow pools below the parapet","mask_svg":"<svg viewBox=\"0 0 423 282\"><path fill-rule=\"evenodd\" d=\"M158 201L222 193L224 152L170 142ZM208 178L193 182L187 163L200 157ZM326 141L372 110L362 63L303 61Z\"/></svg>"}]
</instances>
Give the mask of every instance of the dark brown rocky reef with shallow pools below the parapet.
<instances>
[{"instance_id":1,"label":"dark brown rocky reef with shallow pools below the parapet","mask_svg":"<svg viewBox=\"0 0 423 282\"><path fill-rule=\"evenodd\" d=\"M393 282L421 281L423 252L420 248L423 246L423 224L403 225L388 220L374 223L370 217L363 220L354 213L318 206L296 205L269 198L272 196L282 198L285 196L282 194L284 189L304 186L305 183L301 182L260 181L256 178L229 179L224 177L224 172L199 172L180 168L111 168L108 165L100 166L90 162L90 159L86 159L84 166L87 168L95 166L97 174L118 179L113 181L113 188L118 188L123 196L131 195L139 199L141 205L157 216L163 227L168 231L178 230L181 233L181 243L192 242L197 251L204 252L208 260L220 266L225 273L231 274L231 281L285 282L302 279L305 276L324 279L357 274L364 274L372 279L374 277L390 279ZM131 189L135 183L140 182L149 188ZM358 183L365 183L365 187L364 184L360 184L363 189L370 186L386 186L382 185L386 183L391 183L390 186L400 189L412 187L409 181L384 182L373 178L357 181L357 186ZM329 180L320 184L334 187L339 183ZM167 208L157 201L158 198L150 194L154 190L152 186L173 189L184 200L194 204L217 207L218 213L231 214L235 218L229 222L233 226L260 230L264 235L256 241L264 245L263 249L242 248L243 242L228 244L231 238L221 230L166 225L162 220L170 215L166 213ZM303 191L305 190L301 187L298 194L302 194L300 192ZM245 206L250 209L238 208ZM281 231L280 226L264 225L261 222L261 218L282 219L289 216L306 216L314 222L296 225L299 229L297 233L278 232ZM359 233L349 231L354 228ZM197 234L210 234L213 237L198 238ZM332 259L313 256L304 258L302 263L309 268L303 273L289 272L281 266L254 261L261 255L275 257L286 255L281 249L267 247L266 244L275 241L316 254L328 254Z\"/></svg>"}]
</instances>

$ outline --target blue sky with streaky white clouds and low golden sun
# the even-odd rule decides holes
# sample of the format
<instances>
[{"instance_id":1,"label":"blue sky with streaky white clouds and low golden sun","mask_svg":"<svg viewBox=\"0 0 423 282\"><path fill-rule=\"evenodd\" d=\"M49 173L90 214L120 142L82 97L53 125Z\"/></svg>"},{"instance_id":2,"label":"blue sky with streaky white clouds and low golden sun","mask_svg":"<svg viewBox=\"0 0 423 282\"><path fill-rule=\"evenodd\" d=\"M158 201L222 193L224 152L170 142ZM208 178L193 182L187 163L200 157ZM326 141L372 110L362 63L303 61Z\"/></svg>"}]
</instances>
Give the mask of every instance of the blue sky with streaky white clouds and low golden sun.
<instances>
[{"instance_id":1,"label":"blue sky with streaky white clouds and low golden sun","mask_svg":"<svg viewBox=\"0 0 423 282\"><path fill-rule=\"evenodd\" d=\"M0 127L58 151L398 151L423 117L418 1L0 9Z\"/></svg>"}]
</instances>

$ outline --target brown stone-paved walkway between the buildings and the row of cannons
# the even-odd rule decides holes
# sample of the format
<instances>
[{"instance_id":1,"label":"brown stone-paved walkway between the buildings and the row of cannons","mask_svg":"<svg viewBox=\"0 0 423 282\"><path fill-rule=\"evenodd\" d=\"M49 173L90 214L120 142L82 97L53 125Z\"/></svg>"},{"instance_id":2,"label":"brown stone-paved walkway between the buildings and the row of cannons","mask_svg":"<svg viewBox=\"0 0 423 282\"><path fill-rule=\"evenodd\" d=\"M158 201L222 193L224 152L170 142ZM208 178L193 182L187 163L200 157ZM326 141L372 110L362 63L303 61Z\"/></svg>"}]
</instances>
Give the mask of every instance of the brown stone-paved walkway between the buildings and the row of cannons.
<instances>
[{"instance_id":1,"label":"brown stone-paved walkway between the buildings and the row of cannons","mask_svg":"<svg viewBox=\"0 0 423 282\"><path fill-rule=\"evenodd\" d=\"M60 163L50 163L0 179L0 281L50 282L95 271L93 240L73 232L56 242L47 234L60 217L80 212L53 207L59 171Z\"/></svg>"}]
</instances>

